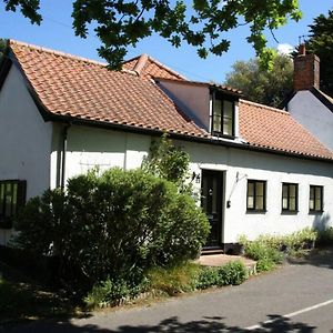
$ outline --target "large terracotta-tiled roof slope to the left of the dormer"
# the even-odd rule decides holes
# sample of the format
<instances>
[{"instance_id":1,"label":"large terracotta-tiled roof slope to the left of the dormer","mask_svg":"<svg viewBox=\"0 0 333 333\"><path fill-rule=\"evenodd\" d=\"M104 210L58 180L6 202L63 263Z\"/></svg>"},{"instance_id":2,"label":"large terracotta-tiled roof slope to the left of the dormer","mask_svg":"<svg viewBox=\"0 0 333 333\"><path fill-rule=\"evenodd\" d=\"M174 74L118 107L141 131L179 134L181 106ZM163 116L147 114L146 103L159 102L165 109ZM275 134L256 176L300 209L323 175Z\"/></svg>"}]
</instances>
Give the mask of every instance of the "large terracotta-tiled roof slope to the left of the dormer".
<instances>
[{"instance_id":1,"label":"large terracotta-tiled roof slope to the left of the dormer","mask_svg":"<svg viewBox=\"0 0 333 333\"><path fill-rule=\"evenodd\" d=\"M10 41L23 74L51 114L204 137L155 83L133 73Z\"/></svg>"}]
</instances>

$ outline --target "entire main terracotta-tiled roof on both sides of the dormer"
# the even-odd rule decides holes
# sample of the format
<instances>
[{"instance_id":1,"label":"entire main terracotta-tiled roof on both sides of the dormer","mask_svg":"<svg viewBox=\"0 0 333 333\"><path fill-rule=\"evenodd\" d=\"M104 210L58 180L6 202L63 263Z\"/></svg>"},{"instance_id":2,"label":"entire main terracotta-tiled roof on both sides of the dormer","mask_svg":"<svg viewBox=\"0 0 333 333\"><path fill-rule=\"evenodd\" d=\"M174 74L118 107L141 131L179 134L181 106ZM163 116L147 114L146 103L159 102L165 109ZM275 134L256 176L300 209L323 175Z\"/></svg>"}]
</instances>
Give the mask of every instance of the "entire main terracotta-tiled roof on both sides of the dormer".
<instances>
[{"instance_id":1,"label":"entire main terracotta-tiled roof on both sides of the dormer","mask_svg":"<svg viewBox=\"0 0 333 333\"><path fill-rule=\"evenodd\" d=\"M152 80L138 77L132 68L109 71L100 62L16 41L10 41L10 50L34 98L56 118L168 131L226 144L195 125ZM248 142L234 142L234 147L333 160L333 152L287 112L240 100L239 114L240 133Z\"/></svg>"}]
</instances>

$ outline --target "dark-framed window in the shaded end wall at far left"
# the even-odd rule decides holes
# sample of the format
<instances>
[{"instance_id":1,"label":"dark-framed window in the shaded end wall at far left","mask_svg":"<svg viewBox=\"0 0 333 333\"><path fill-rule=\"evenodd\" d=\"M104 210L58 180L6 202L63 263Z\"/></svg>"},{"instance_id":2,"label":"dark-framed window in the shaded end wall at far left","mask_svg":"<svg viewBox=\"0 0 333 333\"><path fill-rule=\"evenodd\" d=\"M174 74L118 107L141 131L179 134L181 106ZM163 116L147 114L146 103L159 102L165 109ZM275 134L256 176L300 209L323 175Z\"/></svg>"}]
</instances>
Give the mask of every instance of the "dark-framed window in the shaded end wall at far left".
<instances>
[{"instance_id":1,"label":"dark-framed window in the shaded end wall at far left","mask_svg":"<svg viewBox=\"0 0 333 333\"><path fill-rule=\"evenodd\" d=\"M0 181L0 226L11 228L11 219L26 202L26 181Z\"/></svg>"}]
</instances>

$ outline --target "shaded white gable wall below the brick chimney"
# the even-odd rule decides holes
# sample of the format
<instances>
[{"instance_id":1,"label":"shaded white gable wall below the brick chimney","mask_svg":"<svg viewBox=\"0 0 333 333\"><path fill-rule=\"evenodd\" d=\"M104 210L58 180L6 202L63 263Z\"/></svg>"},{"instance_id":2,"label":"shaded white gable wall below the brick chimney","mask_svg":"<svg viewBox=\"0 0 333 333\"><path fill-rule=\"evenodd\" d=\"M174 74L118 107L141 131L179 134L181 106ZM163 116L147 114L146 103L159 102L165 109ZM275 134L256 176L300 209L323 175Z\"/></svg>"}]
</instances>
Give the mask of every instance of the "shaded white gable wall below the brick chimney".
<instances>
[{"instance_id":1,"label":"shaded white gable wall below the brick chimney","mask_svg":"<svg viewBox=\"0 0 333 333\"><path fill-rule=\"evenodd\" d=\"M322 143L333 150L333 112L311 91L297 91L289 102L287 111Z\"/></svg>"}]
</instances>

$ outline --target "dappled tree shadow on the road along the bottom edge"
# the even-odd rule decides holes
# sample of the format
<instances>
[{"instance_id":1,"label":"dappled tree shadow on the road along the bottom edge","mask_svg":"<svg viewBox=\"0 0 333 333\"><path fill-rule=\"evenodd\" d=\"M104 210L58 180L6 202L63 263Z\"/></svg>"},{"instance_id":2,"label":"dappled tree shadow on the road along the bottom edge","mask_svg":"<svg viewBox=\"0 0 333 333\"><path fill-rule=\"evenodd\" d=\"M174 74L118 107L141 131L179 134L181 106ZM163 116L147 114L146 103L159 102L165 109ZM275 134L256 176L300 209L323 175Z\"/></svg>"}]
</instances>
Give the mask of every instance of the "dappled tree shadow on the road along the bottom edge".
<instances>
[{"instance_id":1,"label":"dappled tree shadow on the road along the bottom edge","mask_svg":"<svg viewBox=\"0 0 333 333\"><path fill-rule=\"evenodd\" d=\"M289 319L281 315L271 314L268 316L270 323L261 323L261 326L251 332L314 332L315 326L310 326L305 323L291 322ZM98 321L98 320L97 320ZM105 324L105 319L103 320ZM98 324L87 324L82 326L75 326L72 323L41 323L37 325L21 326L13 330L0 332L69 332L69 333L185 333L185 332L249 332L246 329L239 326L229 326L223 323L223 317L203 317L200 321L182 323L176 316L163 320L157 325L123 325L117 330L101 329Z\"/></svg>"}]
</instances>

